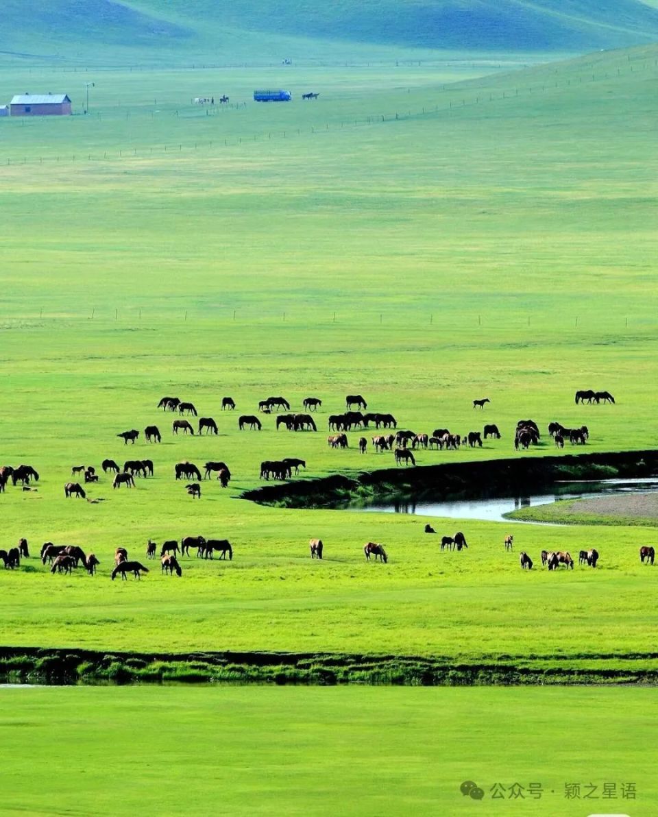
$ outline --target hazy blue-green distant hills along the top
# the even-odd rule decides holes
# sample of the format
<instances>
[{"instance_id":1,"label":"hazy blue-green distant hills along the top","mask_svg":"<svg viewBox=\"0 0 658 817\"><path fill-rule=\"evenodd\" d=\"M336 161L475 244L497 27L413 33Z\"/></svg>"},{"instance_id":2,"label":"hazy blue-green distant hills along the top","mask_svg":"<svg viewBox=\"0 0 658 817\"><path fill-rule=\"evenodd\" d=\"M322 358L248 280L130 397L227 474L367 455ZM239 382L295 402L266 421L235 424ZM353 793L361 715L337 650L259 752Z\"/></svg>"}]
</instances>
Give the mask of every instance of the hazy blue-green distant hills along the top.
<instances>
[{"instance_id":1,"label":"hazy blue-green distant hills along the top","mask_svg":"<svg viewBox=\"0 0 658 817\"><path fill-rule=\"evenodd\" d=\"M94 61L301 57L332 43L564 53L658 39L647 0L2 0L2 23L5 54Z\"/></svg>"}]
</instances>

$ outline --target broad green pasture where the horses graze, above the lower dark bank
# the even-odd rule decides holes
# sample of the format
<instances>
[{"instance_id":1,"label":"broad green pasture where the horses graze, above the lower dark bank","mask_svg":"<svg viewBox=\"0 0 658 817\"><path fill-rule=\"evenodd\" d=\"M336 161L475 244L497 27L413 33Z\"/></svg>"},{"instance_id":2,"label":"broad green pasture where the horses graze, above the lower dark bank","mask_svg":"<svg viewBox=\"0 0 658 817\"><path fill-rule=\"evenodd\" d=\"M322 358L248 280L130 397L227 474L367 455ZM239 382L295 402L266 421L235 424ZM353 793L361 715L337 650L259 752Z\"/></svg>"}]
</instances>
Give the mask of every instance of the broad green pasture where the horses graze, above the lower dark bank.
<instances>
[{"instance_id":1,"label":"broad green pasture where the horses graze, above the lower dark bank","mask_svg":"<svg viewBox=\"0 0 658 817\"><path fill-rule=\"evenodd\" d=\"M437 523L469 542L441 555L419 520L237 497L264 458L305 458L314 476L392 465L360 457L358 434L346 452L327 449L327 415L352 391L415 431L503 431L476 451L420 453L420 465L515 456L521 417L543 429L585 422L589 451L656 447L655 60L655 48L610 52L446 91L426 69L415 79L405 69L403 83L378 69L375 99L362 75L329 73L326 107L320 96L316 108L170 115L161 143L192 145L231 122L230 144L120 160L128 137L146 147L153 137L156 119L137 102L134 117L101 115L102 129L91 118L0 123L2 146L29 160L2 167L2 462L42 474L38 491L0 495L2 547L25 536L33 552L0 574L0 644L651 666L646 529ZM114 79L116 103L132 80ZM469 104L429 113L446 94ZM401 96L427 113L340 127L342 105L391 113ZM279 135L265 141L267 117ZM281 136L297 123L299 136ZM313 123L330 127L313 134ZM99 158L38 163L60 146ZM617 404L576 407L580 387ZM169 393L215 417L220 435L172 437L172 416L155 408ZM295 408L325 400L320 433L277 433L273 417L239 433L238 414L276 394ZM222 395L235 415L222 415ZM151 422L160 446L115 436ZM546 438L517 456L553 451ZM147 456L155 477L137 489L113 491L101 475L89 498L105 502L65 500L71 466ZM173 480L185 458L226 461L230 489L189 498ZM503 551L508 531L537 563L543 547L596 545L600 569L522 574L517 552ZM185 534L228 537L235 559L185 560L180 580L156 564L141 583L110 583L117 545L141 556L147 538ZM307 555L316 536L321 564ZM51 576L34 558L48 540L95 551L101 574ZM365 563L368 540L385 543L388 565Z\"/></svg>"}]
</instances>

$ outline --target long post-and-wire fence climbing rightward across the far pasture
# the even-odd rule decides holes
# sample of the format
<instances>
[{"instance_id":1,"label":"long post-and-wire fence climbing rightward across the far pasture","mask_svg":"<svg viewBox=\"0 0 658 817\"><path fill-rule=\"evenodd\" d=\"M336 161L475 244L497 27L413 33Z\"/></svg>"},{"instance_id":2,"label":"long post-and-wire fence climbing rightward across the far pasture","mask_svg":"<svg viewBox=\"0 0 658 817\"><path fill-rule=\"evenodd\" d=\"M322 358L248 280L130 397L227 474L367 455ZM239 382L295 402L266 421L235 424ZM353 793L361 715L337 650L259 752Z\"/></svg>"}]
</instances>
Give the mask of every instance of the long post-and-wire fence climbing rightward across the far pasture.
<instances>
[{"instance_id":1,"label":"long post-and-wire fence climbing rightward across the far pasture","mask_svg":"<svg viewBox=\"0 0 658 817\"><path fill-rule=\"evenodd\" d=\"M639 62L640 60L638 60ZM395 112L389 112L385 114L368 114L363 116L356 116L354 118L345 118L341 121L338 119L333 120L332 122L326 122L324 125L308 125L304 127L289 127L284 130L275 130L272 129L270 131L262 131L257 133L251 134L244 134L240 136L236 136L235 134L222 136L219 135L217 138L212 140L197 140L197 141L174 141L171 143L160 144L160 145L147 145L147 146L132 146L132 147L125 147L119 148L114 150L85 150L80 151L76 154L70 154L69 152L64 152L60 155L55 156L38 156L38 157L28 157L24 156L23 158L5 158L0 163L5 164L7 166L11 165L25 165L25 164L44 164L44 163L75 163L75 162L95 162L95 161L108 161L111 159L123 159L123 158L147 158L150 156L158 155L158 154L171 154L171 153L178 153L181 154L183 150L187 151L195 151L199 149L212 149L213 147L235 147L236 145L243 145L253 142L264 142L264 141L271 141L274 137L275 139L286 139L294 136L308 136L313 134L320 134L325 132L336 132L340 131L345 128L349 127L359 127L359 126L371 126L374 124L381 124L387 122L399 122L399 121L408 121L414 118L420 118L423 116L437 114L437 113L445 113L450 114L450 111L457 110L457 109L464 109L464 108L472 108L477 107L478 105L486 105L490 102L499 102L502 100L513 100L517 99L519 96L521 97L530 97L533 94L537 96L539 93L546 93L546 92L554 92L556 90L566 90L566 88L574 86L580 86L582 84L596 84L607 82L611 78L618 78L627 74L631 73L639 73L640 71L651 71L652 69L656 69L658 67L658 59L655 60L642 60L642 65L633 65L630 63L628 65L628 69L622 71L622 69L617 68L615 72L603 72L602 74L587 74L587 76L583 76L582 74L578 76L570 76L568 78L562 79L562 82L559 79L555 79L554 81L548 81L544 79L543 82L537 83L534 86L515 86L515 87L508 87L505 89L491 89L489 91L481 91L477 93L474 97L468 96L468 92L465 92L464 89L459 87L452 87L450 85L444 85L441 87L441 93L452 93L457 94L456 99L448 100L447 105L445 102L439 104L438 102L432 104L423 105L422 108L412 110L398 110ZM557 74L557 69L554 72ZM658 77L658 73L653 70L653 78ZM470 89L468 89L470 91ZM463 95L463 96L462 96ZM461 96L461 98L459 98ZM313 104L313 103L311 103ZM236 103L235 107L241 107L242 103ZM217 106L216 106L217 107ZM221 106L220 106L221 107ZM171 112L174 116L180 115L180 109L176 109ZM186 118L199 118L199 116L190 116L189 109L185 109ZM99 114L99 117L102 114ZM139 115L139 114L137 114ZM150 114L152 115L152 114ZM208 112L201 116L200 118L205 118L210 115ZM130 114L128 113L127 118L129 118Z\"/></svg>"}]
</instances>

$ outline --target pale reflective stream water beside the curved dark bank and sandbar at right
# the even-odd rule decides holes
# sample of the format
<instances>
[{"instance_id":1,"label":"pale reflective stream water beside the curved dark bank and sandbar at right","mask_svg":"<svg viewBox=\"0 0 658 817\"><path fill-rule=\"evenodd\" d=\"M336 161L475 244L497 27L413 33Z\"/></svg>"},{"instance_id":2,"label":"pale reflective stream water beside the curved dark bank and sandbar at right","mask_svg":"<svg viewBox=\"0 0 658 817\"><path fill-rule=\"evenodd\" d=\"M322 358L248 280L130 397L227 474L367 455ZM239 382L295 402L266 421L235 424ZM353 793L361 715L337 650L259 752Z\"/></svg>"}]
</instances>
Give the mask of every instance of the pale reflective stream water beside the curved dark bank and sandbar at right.
<instances>
[{"instance_id":1,"label":"pale reflective stream water beside the curved dark bank and sandbar at right","mask_svg":"<svg viewBox=\"0 0 658 817\"><path fill-rule=\"evenodd\" d=\"M378 513L406 513L414 516L441 516L447 519L477 519L504 522L504 514L532 505L547 505L560 499L607 497L613 493L656 493L658 477L636 480L599 480L595 482L558 482L551 493L526 496L494 497L441 501L378 502L357 508L359 511ZM514 520L519 522L521 520ZM537 524L537 523L528 523Z\"/></svg>"}]
</instances>

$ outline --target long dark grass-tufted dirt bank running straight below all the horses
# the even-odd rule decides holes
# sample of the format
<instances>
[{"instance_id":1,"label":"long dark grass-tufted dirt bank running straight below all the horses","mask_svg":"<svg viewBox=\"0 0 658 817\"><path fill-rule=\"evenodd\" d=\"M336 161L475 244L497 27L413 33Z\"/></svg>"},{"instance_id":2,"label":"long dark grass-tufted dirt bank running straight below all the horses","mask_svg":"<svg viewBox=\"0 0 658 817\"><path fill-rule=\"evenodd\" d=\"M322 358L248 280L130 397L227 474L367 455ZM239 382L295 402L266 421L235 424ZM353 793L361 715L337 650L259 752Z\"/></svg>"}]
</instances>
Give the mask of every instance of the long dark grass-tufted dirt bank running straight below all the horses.
<instances>
[{"instance_id":1,"label":"long dark grass-tufted dirt bank running straight below all the horses","mask_svg":"<svg viewBox=\"0 0 658 817\"><path fill-rule=\"evenodd\" d=\"M565 658L329 653L105 653L0 648L0 683L389 684L413 686L658 684L658 653ZM647 668L649 665L654 668Z\"/></svg>"}]
</instances>

